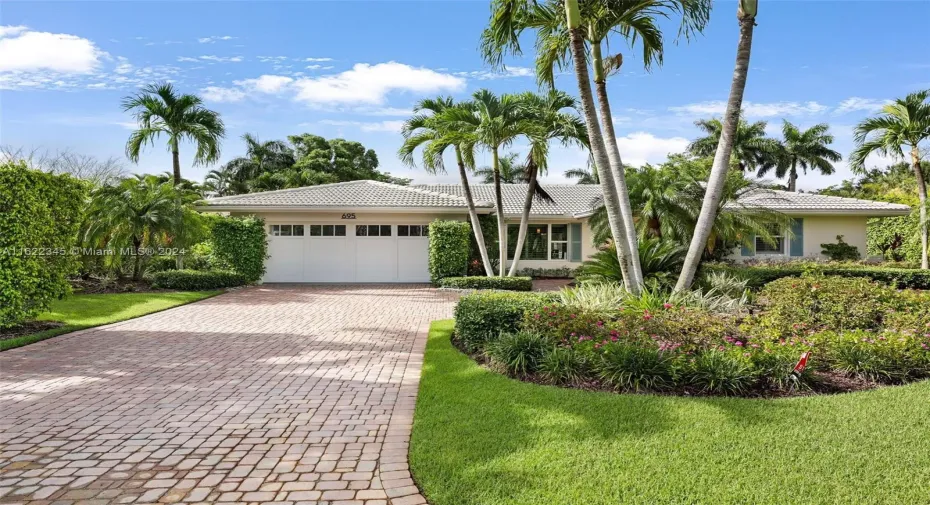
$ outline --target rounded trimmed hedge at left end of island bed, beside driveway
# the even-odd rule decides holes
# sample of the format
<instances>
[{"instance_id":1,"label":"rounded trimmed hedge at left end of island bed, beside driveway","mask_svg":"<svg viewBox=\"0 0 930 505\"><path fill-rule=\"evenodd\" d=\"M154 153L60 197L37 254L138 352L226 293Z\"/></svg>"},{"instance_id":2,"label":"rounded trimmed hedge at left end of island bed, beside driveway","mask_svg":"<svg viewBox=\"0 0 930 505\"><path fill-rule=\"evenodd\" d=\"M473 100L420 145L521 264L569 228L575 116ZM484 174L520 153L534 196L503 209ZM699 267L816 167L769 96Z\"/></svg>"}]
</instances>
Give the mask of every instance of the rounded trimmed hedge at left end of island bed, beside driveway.
<instances>
[{"instance_id":1,"label":"rounded trimmed hedge at left end of island bed, beside driveway","mask_svg":"<svg viewBox=\"0 0 930 505\"><path fill-rule=\"evenodd\" d=\"M455 306L455 334L468 349L481 347L501 332L520 329L523 314L552 303L546 293L488 291L463 296Z\"/></svg>"}]
</instances>

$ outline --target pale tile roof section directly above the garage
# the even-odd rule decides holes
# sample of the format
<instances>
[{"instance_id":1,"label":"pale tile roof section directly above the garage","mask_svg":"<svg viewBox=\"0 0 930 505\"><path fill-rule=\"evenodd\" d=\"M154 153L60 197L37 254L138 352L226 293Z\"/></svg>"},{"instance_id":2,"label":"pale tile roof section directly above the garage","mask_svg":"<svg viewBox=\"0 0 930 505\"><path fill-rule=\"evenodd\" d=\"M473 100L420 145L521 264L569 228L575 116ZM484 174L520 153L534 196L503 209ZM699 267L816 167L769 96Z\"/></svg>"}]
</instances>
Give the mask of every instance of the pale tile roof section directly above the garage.
<instances>
[{"instance_id":1,"label":"pale tile roof section directly above the garage","mask_svg":"<svg viewBox=\"0 0 930 505\"><path fill-rule=\"evenodd\" d=\"M377 181L350 181L320 186L263 191L206 200L205 207L314 207L314 208L466 208L465 199L453 194ZM475 202L491 207L487 202Z\"/></svg>"}]
</instances>

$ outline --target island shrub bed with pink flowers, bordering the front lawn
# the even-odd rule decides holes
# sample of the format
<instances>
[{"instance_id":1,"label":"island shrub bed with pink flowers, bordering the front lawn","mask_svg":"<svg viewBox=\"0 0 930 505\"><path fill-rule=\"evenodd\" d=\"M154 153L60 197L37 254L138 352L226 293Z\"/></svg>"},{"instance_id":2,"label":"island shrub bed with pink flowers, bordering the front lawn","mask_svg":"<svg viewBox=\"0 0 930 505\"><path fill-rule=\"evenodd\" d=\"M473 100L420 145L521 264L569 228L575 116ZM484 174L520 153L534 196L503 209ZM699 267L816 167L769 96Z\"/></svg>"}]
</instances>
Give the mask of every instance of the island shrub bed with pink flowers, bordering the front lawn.
<instances>
[{"instance_id":1,"label":"island shrub bed with pink flowers, bordering the front lawn","mask_svg":"<svg viewBox=\"0 0 930 505\"><path fill-rule=\"evenodd\" d=\"M930 377L930 293L868 279L780 279L751 314L563 300L573 297L463 297L457 342L514 377L629 392L772 396Z\"/></svg>"}]
</instances>

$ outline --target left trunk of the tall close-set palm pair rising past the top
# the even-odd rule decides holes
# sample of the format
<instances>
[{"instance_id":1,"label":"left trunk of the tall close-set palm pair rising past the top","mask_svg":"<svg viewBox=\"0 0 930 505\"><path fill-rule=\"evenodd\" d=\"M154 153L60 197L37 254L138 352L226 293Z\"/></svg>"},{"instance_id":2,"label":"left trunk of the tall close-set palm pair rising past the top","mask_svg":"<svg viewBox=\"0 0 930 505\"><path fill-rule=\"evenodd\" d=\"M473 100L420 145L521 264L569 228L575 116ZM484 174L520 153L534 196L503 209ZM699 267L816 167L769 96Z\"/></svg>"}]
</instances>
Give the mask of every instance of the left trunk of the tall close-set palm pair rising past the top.
<instances>
[{"instance_id":1,"label":"left trunk of the tall close-set palm pair rising past the top","mask_svg":"<svg viewBox=\"0 0 930 505\"><path fill-rule=\"evenodd\" d=\"M635 281L632 273L630 242L629 240L623 240L627 236L626 228L620 214L617 190L614 186L613 176L610 174L610 159L607 157L607 148L604 146L604 137L601 135L601 126L597 120L594 97L591 93L591 77L588 74L588 63L585 57L584 33L579 28L581 13L578 9L578 0L565 0L565 14L571 39L572 63L575 66L575 78L578 80L581 110L588 130L588 141L591 144L594 165L597 169L598 178L601 180L601 192L603 193L604 209L607 211L607 222L610 225L610 233L617 245L620 273L627 289L632 294L639 295L639 283ZM617 240L618 237L620 240Z\"/></svg>"}]
</instances>

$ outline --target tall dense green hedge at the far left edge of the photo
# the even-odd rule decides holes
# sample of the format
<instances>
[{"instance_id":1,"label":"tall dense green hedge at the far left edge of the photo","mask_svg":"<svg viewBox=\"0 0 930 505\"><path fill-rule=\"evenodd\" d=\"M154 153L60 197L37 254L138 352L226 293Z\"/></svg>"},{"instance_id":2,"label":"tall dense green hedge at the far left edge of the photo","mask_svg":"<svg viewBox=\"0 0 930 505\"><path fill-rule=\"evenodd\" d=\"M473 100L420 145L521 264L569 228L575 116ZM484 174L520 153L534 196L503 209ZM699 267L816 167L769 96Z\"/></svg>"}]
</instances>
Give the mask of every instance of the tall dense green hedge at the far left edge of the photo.
<instances>
[{"instance_id":1,"label":"tall dense green hedge at the far left edge of the photo","mask_svg":"<svg viewBox=\"0 0 930 505\"><path fill-rule=\"evenodd\" d=\"M85 196L84 184L69 175L0 164L0 328L68 293Z\"/></svg>"}]
</instances>

